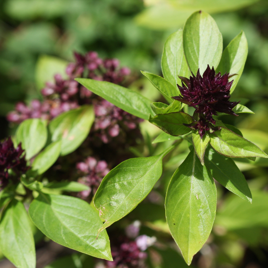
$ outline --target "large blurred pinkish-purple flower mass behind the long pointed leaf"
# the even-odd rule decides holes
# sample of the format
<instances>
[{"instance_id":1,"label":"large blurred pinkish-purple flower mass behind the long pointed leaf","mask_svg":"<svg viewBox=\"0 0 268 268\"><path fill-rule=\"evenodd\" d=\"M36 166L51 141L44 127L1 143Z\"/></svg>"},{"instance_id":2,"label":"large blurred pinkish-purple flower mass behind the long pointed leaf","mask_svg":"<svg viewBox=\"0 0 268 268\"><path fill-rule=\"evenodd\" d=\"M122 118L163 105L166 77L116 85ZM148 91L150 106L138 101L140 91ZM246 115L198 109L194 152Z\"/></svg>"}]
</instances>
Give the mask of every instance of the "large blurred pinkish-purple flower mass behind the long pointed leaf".
<instances>
[{"instance_id":1,"label":"large blurred pinkish-purple flower mass behind the long pointed leaf","mask_svg":"<svg viewBox=\"0 0 268 268\"><path fill-rule=\"evenodd\" d=\"M93 103L96 115L94 130L103 142L107 143L112 137L119 135L121 127L135 129L140 119L93 95L73 80L75 77L85 77L122 84L130 74L130 69L119 68L117 59L102 60L93 51L85 56L74 53L74 58L75 63L70 63L66 68L67 79L56 74L55 82L47 82L46 87L41 90L43 102L33 100L30 106L19 102L15 111L7 115L7 120L17 124L28 118L51 120L79 105Z\"/></svg>"}]
</instances>

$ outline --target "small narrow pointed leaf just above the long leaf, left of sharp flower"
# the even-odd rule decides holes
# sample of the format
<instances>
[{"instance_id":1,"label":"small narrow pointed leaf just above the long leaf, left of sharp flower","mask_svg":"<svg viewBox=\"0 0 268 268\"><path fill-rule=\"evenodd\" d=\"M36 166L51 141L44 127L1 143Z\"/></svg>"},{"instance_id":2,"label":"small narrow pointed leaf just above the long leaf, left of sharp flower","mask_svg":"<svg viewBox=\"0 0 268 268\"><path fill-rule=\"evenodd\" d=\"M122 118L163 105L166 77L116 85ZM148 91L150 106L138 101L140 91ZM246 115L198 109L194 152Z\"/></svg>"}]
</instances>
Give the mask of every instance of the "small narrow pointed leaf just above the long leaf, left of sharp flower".
<instances>
[{"instance_id":1,"label":"small narrow pointed leaf just above the long leaf, left of sharp flower","mask_svg":"<svg viewBox=\"0 0 268 268\"><path fill-rule=\"evenodd\" d=\"M154 87L169 103L172 103L174 101L174 99L171 98L172 96L178 96L180 94L178 87L174 87L168 80L164 79L163 77L146 71L141 71L141 73L150 80Z\"/></svg>"}]
</instances>

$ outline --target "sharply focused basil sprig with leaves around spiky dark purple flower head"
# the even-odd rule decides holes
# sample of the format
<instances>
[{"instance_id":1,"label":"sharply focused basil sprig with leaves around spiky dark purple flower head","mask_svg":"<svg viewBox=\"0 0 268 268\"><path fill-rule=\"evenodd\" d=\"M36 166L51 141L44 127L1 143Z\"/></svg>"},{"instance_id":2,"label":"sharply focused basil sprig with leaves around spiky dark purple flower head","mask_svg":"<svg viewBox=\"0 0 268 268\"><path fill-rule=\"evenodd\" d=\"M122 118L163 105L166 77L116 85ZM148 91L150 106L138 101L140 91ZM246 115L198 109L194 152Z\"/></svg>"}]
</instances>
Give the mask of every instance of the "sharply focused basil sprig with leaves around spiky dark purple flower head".
<instances>
[{"instance_id":1,"label":"sharply focused basil sprig with leaves around spiky dark purple flower head","mask_svg":"<svg viewBox=\"0 0 268 268\"><path fill-rule=\"evenodd\" d=\"M104 221L99 235L145 199L162 174L163 158L183 139L189 141L190 153L170 180L165 209L170 232L188 265L212 229L217 202L214 180L252 202L245 177L232 158L255 161L256 157L268 155L234 126L218 119L222 114L253 113L230 99L247 58L244 32L223 52L222 48L222 35L215 21L202 11L193 13L183 29L170 35L161 62L164 78L142 71L166 103L151 102L110 82L76 79L93 93L160 128L163 133L159 140L174 140L160 154L126 160L104 177L94 197ZM192 111L191 115L187 111ZM63 205L62 199L42 203L59 206Z\"/></svg>"}]
</instances>

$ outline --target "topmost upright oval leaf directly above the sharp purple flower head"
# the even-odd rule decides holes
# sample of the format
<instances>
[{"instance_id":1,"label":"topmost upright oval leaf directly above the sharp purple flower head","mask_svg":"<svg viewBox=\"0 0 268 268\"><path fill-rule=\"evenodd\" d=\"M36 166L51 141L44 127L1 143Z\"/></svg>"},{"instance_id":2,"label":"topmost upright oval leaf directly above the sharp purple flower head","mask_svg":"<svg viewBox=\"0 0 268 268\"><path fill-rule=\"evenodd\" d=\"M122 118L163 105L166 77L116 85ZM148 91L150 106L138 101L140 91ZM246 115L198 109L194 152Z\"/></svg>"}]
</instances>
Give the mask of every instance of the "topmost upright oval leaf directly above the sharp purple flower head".
<instances>
[{"instance_id":1,"label":"topmost upright oval leaf directly above the sharp purple flower head","mask_svg":"<svg viewBox=\"0 0 268 268\"><path fill-rule=\"evenodd\" d=\"M194 74L200 68L202 75L207 65L216 69L222 54L222 35L209 14L197 11L187 19L183 28L183 48Z\"/></svg>"}]
</instances>

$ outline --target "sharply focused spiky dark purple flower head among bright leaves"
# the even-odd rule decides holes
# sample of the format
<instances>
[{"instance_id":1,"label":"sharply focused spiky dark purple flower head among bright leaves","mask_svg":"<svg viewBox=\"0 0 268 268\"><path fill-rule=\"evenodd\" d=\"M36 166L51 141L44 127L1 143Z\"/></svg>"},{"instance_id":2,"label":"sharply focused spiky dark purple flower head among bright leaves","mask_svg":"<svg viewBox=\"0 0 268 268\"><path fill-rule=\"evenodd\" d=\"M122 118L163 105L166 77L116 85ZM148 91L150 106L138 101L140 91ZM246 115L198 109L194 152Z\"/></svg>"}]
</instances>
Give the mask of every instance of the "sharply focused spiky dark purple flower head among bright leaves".
<instances>
[{"instance_id":1,"label":"sharply focused spiky dark purple flower head among bright leaves","mask_svg":"<svg viewBox=\"0 0 268 268\"><path fill-rule=\"evenodd\" d=\"M210 69L207 65L203 73L203 77L198 69L197 76L192 73L190 79L179 76L182 80L182 86L179 86L181 96L172 97L175 100L186 103L196 109L195 113L199 114L200 121L195 125L199 129L199 134L202 135L207 129L210 129L208 123L215 124L213 115L218 115L217 112L235 115L232 109L239 102L231 102L230 88L233 80L228 82L231 77L229 73L223 75L215 74L214 67Z\"/></svg>"}]
</instances>

